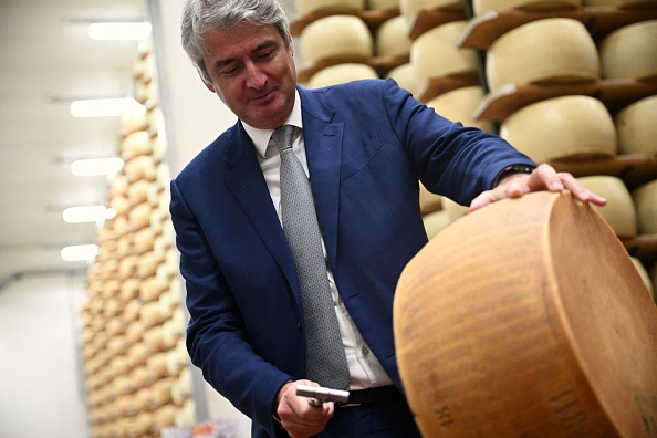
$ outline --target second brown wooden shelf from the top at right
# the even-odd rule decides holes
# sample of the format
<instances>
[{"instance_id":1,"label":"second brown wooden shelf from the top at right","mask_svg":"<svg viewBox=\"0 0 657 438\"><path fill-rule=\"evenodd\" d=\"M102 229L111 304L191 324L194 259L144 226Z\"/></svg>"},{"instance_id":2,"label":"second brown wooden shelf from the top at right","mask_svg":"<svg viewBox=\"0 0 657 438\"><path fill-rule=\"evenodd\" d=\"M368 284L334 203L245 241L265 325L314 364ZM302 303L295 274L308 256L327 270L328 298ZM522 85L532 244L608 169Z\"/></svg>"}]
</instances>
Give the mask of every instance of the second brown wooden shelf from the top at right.
<instances>
[{"instance_id":1,"label":"second brown wooden shelf from the top at right","mask_svg":"<svg viewBox=\"0 0 657 438\"><path fill-rule=\"evenodd\" d=\"M657 94L657 79L650 81L601 80L581 83L540 83L502 86L490 93L474 112L473 118L503 122L515 111L548 98L584 95L598 98L609 111L616 111Z\"/></svg>"}]
</instances>

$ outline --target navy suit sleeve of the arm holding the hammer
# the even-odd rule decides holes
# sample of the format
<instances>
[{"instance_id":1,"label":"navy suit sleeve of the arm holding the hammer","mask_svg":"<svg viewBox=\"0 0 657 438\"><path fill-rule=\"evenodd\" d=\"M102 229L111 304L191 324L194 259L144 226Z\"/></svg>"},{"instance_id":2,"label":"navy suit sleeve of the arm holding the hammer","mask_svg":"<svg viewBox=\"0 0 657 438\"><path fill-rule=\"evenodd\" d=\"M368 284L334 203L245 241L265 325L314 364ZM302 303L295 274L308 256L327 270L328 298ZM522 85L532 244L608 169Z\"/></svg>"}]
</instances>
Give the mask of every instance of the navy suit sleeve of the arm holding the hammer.
<instances>
[{"instance_id":1,"label":"navy suit sleeve of the arm holding the hammer","mask_svg":"<svg viewBox=\"0 0 657 438\"><path fill-rule=\"evenodd\" d=\"M186 342L191 362L215 389L274 437L272 403L291 377L251 348L234 298L175 180L170 212L190 313Z\"/></svg>"}]
</instances>

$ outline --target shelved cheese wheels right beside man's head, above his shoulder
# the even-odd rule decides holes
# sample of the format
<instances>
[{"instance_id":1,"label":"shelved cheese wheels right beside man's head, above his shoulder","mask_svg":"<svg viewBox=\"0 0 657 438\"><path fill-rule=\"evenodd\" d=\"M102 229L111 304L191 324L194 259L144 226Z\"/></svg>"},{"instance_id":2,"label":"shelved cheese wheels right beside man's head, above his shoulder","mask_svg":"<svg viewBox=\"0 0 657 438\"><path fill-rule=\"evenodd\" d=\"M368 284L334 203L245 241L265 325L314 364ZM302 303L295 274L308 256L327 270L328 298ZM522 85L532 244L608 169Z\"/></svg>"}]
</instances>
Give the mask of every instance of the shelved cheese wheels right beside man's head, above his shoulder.
<instances>
[{"instance_id":1,"label":"shelved cheese wheels right beside man's head, above his shoulder","mask_svg":"<svg viewBox=\"0 0 657 438\"><path fill-rule=\"evenodd\" d=\"M408 23L399 14L397 0L298 0L295 7L300 17L292 31L299 36L299 81L307 87L387 77L408 64ZM410 90L407 70L398 70L394 77Z\"/></svg>"}]
</instances>

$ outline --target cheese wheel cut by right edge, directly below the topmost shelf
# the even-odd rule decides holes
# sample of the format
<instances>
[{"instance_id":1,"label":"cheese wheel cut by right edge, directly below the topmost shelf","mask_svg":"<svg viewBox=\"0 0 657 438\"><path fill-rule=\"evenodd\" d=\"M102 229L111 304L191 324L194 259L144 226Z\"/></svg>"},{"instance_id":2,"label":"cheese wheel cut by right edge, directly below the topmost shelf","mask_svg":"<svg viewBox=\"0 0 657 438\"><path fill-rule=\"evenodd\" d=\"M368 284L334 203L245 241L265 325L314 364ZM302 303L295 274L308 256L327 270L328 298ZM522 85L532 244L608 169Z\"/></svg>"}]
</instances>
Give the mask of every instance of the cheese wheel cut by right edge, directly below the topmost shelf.
<instances>
[{"instance_id":1,"label":"cheese wheel cut by right edge, directly below the topmost shelf","mask_svg":"<svg viewBox=\"0 0 657 438\"><path fill-rule=\"evenodd\" d=\"M657 77L657 20L629 24L609 33L599 43L605 79Z\"/></svg>"}]
</instances>

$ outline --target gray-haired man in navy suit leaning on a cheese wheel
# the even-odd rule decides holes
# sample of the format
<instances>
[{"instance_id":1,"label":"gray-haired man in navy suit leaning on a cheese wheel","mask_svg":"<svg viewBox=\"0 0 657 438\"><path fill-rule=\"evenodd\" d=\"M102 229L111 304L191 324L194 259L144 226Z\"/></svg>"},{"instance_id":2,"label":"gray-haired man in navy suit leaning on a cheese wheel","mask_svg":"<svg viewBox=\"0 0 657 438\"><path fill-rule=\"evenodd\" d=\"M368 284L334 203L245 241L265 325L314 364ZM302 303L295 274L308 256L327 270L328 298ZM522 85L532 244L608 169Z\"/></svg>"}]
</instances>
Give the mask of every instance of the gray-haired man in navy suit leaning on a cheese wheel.
<instances>
[{"instance_id":1,"label":"gray-haired man in navy suit leaning on a cheese wheel","mask_svg":"<svg viewBox=\"0 0 657 438\"><path fill-rule=\"evenodd\" d=\"M182 43L239 118L171 182L194 364L252 419L254 437L419 436L392 323L397 279L427 242L418 181L472 210L542 189L604 199L501 138L440 117L394 81L299 87L275 0L189 0ZM295 127L293 150L312 185L357 406L295 395L298 384L317 382L306 379L304 312L280 220L270 137L284 124Z\"/></svg>"}]
</instances>

